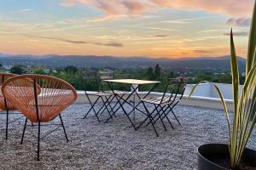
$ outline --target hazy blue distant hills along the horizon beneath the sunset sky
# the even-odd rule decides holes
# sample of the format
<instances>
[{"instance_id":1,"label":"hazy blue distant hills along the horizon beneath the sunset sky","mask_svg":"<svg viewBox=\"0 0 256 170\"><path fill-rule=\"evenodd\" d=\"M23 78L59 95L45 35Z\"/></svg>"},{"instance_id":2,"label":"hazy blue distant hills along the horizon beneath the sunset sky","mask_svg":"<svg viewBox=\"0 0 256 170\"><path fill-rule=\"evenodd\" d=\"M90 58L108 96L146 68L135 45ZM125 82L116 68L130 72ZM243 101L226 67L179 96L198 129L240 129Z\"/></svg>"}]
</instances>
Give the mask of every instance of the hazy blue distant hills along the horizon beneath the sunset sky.
<instances>
[{"instance_id":1,"label":"hazy blue distant hills along the horizon beneath the sunset sky","mask_svg":"<svg viewBox=\"0 0 256 170\"><path fill-rule=\"evenodd\" d=\"M12 55L0 54L0 63L3 65L48 65L61 67L75 65L78 67L117 67L117 68L146 68L160 64L166 68L191 68L191 69L230 69L230 57L200 57L200 58L148 58L148 57L114 57L94 55ZM238 59L240 69L245 70L246 60Z\"/></svg>"}]
</instances>

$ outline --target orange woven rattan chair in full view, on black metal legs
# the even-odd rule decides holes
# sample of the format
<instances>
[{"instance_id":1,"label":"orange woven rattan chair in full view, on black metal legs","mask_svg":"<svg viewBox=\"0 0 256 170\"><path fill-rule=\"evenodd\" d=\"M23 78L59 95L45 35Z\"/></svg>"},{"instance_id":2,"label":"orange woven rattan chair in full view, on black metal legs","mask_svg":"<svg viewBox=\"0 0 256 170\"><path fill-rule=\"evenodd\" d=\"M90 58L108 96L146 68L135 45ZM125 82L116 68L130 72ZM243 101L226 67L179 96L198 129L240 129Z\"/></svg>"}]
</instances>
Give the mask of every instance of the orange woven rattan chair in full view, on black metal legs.
<instances>
[{"instance_id":1,"label":"orange woven rattan chair in full view, on black metal legs","mask_svg":"<svg viewBox=\"0 0 256 170\"><path fill-rule=\"evenodd\" d=\"M43 75L22 75L12 77L4 82L2 93L15 108L26 116L20 144L24 139L27 119L30 122L38 123L38 160L42 122L50 122L56 116L59 116L61 124L58 125L63 127L67 139L67 133L61 119L61 111L73 104L78 97L75 88L68 82Z\"/></svg>"}]
</instances>

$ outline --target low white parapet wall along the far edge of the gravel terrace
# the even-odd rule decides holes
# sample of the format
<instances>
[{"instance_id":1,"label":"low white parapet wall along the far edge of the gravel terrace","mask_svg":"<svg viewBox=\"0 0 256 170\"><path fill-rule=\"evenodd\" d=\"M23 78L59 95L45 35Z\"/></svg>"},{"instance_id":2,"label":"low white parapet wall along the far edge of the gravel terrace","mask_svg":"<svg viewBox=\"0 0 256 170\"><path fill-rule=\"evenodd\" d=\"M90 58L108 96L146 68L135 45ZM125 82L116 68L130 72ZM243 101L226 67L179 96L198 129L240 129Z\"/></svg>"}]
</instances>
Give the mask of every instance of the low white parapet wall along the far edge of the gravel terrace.
<instances>
[{"instance_id":1,"label":"low white parapet wall along the far edge of the gravel terrace","mask_svg":"<svg viewBox=\"0 0 256 170\"><path fill-rule=\"evenodd\" d=\"M232 85L224 84L224 83L215 83L218 88L224 94L224 99L226 101L226 105L229 111L233 111L233 99L232 99ZM221 109L223 110L223 104L221 103L217 91L212 86L212 83L206 82L201 83L197 88L195 88L194 93L188 99L188 96L195 84L188 84L186 86L183 99L179 103L179 105L190 105L190 106L199 106L199 107L207 107L213 109ZM240 87L241 91L242 86ZM84 91L77 91L79 94L79 98L76 103L88 103L88 99L86 98ZM93 92L90 92L93 93ZM138 92L143 98L147 92ZM128 95L128 94L127 94ZM152 92L148 97L161 96L162 93ZM166 94L170 95L170 94ZM95 101L96 97L90 96L91 101ZM133 98L131 98L133 99ZM136 98L136 100L138 100Z\"/></svg>"}]
</instances>

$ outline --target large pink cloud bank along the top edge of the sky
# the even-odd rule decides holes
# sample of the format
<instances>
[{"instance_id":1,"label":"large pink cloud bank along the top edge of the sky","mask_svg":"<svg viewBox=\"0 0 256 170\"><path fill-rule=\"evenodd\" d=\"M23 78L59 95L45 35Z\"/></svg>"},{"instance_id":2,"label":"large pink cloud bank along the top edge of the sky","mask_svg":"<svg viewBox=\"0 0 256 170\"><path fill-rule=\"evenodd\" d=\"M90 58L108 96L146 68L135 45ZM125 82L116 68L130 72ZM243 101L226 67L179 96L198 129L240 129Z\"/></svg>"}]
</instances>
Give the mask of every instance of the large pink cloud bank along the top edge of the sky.
<instances>
[{"instance_id":1,"label":"large pink cloud bank along the top edge of the sky","mask_svg":"<svg viewBox=\"0 0 256 170\"><path fill-rule=\"evenodd\" d=\"M66 0L62 6L74 3L90 5L108 17L134 16L152 8L205 10L211 13L247 17L253 11L253 0Z\"/></svg>"}]
</instances>

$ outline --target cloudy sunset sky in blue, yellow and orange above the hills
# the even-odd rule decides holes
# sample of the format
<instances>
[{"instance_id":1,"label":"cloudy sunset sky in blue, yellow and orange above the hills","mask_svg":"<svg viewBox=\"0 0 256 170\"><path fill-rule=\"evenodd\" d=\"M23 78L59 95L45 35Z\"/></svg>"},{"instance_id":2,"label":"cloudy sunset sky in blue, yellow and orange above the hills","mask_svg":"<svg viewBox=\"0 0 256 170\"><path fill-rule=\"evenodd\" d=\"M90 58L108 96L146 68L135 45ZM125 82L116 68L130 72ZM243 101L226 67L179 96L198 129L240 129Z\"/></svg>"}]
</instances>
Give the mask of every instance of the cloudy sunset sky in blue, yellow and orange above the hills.
<instances>
[{"instance_id":1,"label":"cloudy sunset sky in blue, yellow and orange above the hills","mask_svg":"<svg viewBox=\"0 0 256 170\"><path fill-rule=\"evenodd\" d=\"M0 53L246 56L254 0L0 0Z\"/></svg>"}]
</instances>

